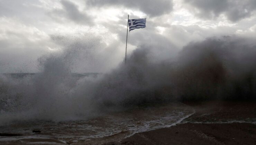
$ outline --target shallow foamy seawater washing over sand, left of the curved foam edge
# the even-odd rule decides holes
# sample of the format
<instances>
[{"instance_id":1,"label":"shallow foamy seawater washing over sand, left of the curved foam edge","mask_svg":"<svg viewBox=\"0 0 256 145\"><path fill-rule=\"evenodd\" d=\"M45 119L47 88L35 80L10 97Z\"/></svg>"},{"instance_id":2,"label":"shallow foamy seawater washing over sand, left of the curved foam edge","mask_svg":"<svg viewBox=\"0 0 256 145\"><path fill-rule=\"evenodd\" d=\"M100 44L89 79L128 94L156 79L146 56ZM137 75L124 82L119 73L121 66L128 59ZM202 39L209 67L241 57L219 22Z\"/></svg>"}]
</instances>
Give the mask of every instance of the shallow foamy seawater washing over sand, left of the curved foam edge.
<instances>
[{"instance_id":1,"label":"shallow foamy seawater washing over sand, left of the curved foam edge","mask_svg":"<svg viewBox=\"0 0 256 145\"><path fill-rule=\"evenodd\" d=\"M135 133L176 125L193 113L194 110L189 106L172 103L110 113L89 120L16 122L0 127L0 132L20 136L2 136L0 143L100 144L121 141ZM33 130L41 132L33 133Z\"/></svg>"}]
</instances>

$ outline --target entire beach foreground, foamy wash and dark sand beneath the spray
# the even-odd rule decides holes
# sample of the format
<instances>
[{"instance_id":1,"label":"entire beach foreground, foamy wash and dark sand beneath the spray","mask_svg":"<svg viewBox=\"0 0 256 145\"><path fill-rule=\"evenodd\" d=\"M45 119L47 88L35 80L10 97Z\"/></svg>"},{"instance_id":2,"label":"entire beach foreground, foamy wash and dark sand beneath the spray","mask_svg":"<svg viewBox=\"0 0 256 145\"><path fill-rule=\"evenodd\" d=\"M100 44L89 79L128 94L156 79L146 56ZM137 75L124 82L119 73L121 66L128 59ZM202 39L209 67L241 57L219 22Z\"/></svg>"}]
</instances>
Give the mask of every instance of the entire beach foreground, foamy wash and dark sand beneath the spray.
<instances>
[{"instance_id":1,"label":"entire beach foreground, foamy wash and dark sand beneath the spray","mask_svg":"<svg viewBox=\"0 0 256 145\"><path fill-rule=\"evenodd\" d=\"M88 121L13 124L1 128L0 144L254 145L255 112L254 101L158 104Z\"/></svg>"}]
</instances>

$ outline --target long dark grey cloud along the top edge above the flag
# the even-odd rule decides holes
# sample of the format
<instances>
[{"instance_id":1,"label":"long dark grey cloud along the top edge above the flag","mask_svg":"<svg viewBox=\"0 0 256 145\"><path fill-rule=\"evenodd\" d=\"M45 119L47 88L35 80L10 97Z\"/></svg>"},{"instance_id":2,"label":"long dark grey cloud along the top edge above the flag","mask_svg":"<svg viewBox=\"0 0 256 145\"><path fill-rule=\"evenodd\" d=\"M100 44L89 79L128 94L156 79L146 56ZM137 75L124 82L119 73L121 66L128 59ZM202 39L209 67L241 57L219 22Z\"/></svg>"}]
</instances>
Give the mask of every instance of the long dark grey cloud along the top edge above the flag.
<instances>
[{"instance_id":1,"label":"long dark grey cloud along the top edge above the flag","mask_svg":"<svg viewBox=\"0 0 256 145\"><path fill-rule=\"evenodd\" d=\"M88 0L91 6L124 6L130 9L139 9L149 16L160 16L172 11L172 0Z\"/></svg>"}]
</instances>

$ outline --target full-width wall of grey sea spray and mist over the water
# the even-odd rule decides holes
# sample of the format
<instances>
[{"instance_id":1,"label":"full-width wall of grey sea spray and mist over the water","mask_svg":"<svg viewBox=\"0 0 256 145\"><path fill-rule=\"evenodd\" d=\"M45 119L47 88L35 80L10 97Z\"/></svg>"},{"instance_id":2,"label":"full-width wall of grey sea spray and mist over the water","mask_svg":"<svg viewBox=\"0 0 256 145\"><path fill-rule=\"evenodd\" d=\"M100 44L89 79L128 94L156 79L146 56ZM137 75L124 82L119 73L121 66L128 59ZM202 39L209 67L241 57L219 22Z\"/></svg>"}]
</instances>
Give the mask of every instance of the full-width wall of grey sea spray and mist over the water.
<instances>
[{"instance_id":1,"label":"full-width wall of grey sea spray and mist over the water","mask_svg":"<svg viewBox=\"0 0 256 145\"><path fill-rule=\"evenodd\" d=\"M79 78L71 73L81 50L74 47L40 58L43 70L35 75L0 74L0 125L88 119L166 101L256 96L256 43L245 38L209 38L180 51L144 45L128 56L127 64L97 77Z\"/></svg>"}]
</instances>

